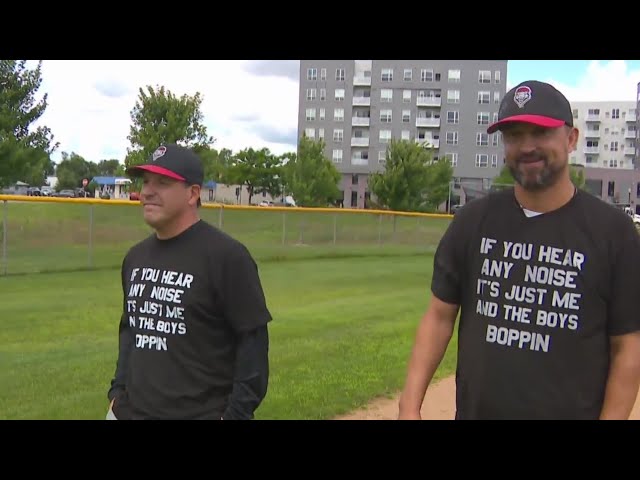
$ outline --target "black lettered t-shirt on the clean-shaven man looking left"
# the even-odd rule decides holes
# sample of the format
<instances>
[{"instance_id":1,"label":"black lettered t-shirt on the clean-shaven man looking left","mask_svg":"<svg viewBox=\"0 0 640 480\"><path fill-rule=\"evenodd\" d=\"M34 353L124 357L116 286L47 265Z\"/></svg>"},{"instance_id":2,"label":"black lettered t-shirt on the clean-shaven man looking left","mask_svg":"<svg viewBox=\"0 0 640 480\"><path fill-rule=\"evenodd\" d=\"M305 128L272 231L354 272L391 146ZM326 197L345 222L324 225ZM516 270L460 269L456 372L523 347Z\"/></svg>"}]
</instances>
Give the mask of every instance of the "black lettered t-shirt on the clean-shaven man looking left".
<instances>
[{"instance_id":1,"label":"black lettered t-shirt on the clean-shaven man looking left","mask_svg":"<svg viewBox=\"0 0 640 480\"><path fill-rule=\"evenodd\" d=\"M271 320L246 247L199 221L134 246L122 281L116 416L219 419L233 388L237 335Z\"/></svg>"}]
</instances>

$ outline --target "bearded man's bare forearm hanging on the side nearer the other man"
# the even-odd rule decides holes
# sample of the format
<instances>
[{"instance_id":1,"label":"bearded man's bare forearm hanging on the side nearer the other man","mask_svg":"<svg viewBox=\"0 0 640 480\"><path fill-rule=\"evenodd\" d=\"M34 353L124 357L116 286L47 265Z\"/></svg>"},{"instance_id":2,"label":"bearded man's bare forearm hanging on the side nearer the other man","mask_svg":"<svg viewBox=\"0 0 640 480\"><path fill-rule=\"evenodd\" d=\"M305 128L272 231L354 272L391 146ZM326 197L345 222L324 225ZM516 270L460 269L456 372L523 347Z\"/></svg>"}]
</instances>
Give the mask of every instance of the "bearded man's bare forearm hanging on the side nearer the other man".
<instances>
[{"instance_id":1,"label":"bearded man's bare forearm hanging on the side nearer the other man","mask_svg":"<svg viewBox=\"0 0 640 480\"><path fill-rule=\"evenodd\" d=\"M407 379L400 396L399 420L420 420L424 396L447 350L457 316L458 305L431 297L411 352Z\"/></svg>"}]
</instances>

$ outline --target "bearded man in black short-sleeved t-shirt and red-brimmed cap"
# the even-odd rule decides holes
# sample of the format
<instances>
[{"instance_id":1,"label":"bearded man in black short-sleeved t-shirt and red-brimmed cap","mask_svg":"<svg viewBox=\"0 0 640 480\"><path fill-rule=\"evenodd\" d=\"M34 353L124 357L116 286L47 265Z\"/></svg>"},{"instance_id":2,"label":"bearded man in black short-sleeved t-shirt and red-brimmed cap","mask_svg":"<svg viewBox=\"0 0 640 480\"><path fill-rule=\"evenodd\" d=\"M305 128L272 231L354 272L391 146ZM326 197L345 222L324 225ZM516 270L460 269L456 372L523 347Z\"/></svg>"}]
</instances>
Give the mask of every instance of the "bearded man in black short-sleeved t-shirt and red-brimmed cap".
<instances>
[{"instance_id":1,"label":"bearded man in black short-sleeved t-shirt and red-brimmed cap","mask_svg":"<svg viewBox=\"0 0 640 480\"><path fill-rule=\"evenodd\" d=\"M627 419L640 382L640 236L575 188L567 99L523 82L498 121L513 188L464 206L434 258L399 404L419 419L458 313L457 419Z\"/></svg>"}]
</instances>

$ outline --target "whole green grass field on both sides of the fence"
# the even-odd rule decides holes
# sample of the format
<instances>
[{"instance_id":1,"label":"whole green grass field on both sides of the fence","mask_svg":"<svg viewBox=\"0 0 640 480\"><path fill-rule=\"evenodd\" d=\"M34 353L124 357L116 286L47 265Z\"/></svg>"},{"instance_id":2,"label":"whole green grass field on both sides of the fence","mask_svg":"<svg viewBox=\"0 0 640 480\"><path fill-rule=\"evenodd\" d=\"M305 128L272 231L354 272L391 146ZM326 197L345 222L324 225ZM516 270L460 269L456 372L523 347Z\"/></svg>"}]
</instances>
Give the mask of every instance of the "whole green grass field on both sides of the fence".
<instances>
[{"instance_id":1,"label":"whole green grass field on both sides of the fence","mask_svg":"<svg viewBox=\"0 0 640 480\"><path fill-rule=\"evenodd\" d=\"M87 267L88 206L9 205L0 419L104 418L122 300L117 267L149 232L138 208L94 209L100 268L60 272ZM225 211L222 224L258 260L274 316L270 387L257 418L332 418L396 393L448 220L400 218L394 234L388 218L379 230L377 216L338 214L334 244L333 215L286 215L284 245L280 212ZM217 211L203 216L218 224ZM455 349L438 377L454 371Z\"/></svg>"}]
</instances>

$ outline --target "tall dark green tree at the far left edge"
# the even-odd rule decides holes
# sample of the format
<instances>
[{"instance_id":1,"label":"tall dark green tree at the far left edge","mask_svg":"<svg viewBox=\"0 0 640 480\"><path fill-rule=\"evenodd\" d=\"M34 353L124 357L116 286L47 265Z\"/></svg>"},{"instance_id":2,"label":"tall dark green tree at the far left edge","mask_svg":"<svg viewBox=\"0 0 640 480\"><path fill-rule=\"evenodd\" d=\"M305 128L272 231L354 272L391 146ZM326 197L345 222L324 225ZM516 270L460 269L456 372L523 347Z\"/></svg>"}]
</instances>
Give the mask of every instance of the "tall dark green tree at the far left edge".
<instances>
[{"instance_id":1,"label":"tall dark green tree at the far left edge","mask_svg":"<svg viewBox=\"0 0 640 480\"><path fill-rule=\"evenodd\" d=\"M51 130L34 123L47 108L42 84L42 61L30 70L25 60L0 60L0 186L15 181L43 185L51 173L51 154L58 147Z\"/></svg>"}]
</instances>

